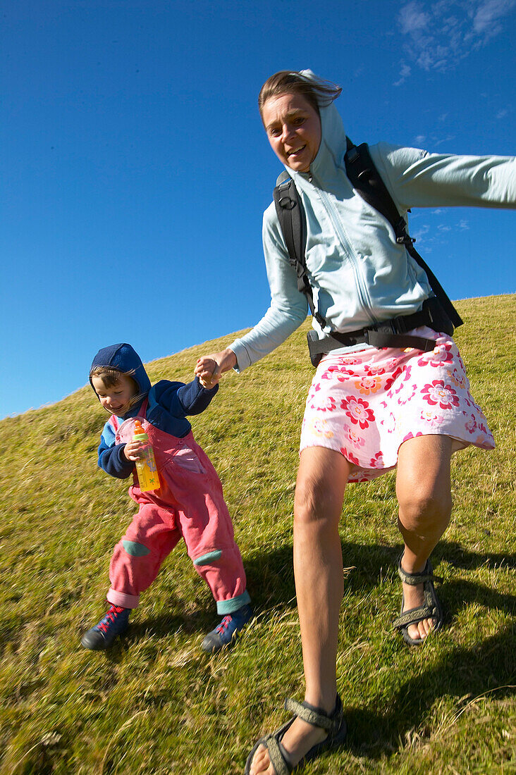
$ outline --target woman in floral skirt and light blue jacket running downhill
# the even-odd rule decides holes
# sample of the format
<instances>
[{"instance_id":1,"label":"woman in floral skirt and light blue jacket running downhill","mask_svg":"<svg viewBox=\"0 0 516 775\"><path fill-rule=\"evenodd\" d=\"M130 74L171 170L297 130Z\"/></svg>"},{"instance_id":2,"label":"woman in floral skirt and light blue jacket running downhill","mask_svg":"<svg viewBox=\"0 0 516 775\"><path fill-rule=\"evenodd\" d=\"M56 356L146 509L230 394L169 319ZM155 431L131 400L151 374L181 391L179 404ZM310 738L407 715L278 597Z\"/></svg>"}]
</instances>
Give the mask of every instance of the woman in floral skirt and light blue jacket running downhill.
<instances>
[{"instance_id":1,"label":"woman in floral skirt and light blue jacket running downhill","mask_svg":"<svg viewBox=\"0 0 516 775\"><path fill-rule=\"evenodd\" d=\"M414 315L434 295L386 219L348 180L345 130L333 104L340 92L310 71L282 71L265 82L258 100L268 141L306 212L307 274L325 324L314 319L313 329L324 341L331 331L355 332ZM370 153L405 219L418 205L509 208L516 202L514 159L429 155L386 143ZM196 372L206 384L255 363L306 318L306 295L298 290L274 205L265 211L263 242L271 306L251 332L199 360ZM435 340L435 349L328 345L313 378L293 528L305 702L289 701L291 721L258 741L246 766L251 775L288 773L345 739L336 659L343 594L338 522L348 481L397 467L404 550L398 567L403 616L396 626L407 643L418 645L442 625L429 557L450 518L450 458L472 443L494 444L451 336L421 323L407 333Z\"/></svg>"}]
</instances>

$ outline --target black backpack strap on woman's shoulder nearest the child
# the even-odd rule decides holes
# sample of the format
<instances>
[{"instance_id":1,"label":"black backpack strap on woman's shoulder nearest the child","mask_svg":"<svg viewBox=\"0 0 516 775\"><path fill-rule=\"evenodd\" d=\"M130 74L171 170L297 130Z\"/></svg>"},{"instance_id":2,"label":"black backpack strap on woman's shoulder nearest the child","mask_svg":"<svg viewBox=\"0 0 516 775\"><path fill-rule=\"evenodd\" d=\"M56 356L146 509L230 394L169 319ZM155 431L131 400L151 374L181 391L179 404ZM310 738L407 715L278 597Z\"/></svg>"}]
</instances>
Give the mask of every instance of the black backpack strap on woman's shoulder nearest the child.
<instances>
[{"instance_id":1,"label":"black backpack strap on woman's shoulder nearest the child","mask_svg":"<svg viewBox=\"0 0 516 775\"><path fill-rule=\"evenodd\" d=\"M292 177L285 171L279 175L273 192L279 226L289 251L289 260L296 267L297 288L306 294L308 306L321 328L326 321L313 303L313 291L306 274L306 216L299 192Z\"/></svg>"}]
</instances>

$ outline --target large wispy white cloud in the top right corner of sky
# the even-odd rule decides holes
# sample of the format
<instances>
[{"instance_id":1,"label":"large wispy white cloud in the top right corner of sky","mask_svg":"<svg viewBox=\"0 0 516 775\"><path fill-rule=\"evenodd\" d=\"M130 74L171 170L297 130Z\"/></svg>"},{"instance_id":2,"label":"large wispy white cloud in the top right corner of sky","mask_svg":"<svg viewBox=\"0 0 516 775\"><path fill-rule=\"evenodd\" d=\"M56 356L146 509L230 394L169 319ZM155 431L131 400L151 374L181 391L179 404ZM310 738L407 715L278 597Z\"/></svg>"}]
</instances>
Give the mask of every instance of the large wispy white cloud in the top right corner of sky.
<instances>
[{"instance_id":1,"label":"large wispy white cloud in the top right corner of sky","mask_svg":"<svg viewBox=\"0 0 516 775\"><path fill-rule=\"evenodd\" d=\"M447 71L498 35L514 7L516 0L410 0L397 19L407 57L423 70Z\"/></svg>"}]
</instances>

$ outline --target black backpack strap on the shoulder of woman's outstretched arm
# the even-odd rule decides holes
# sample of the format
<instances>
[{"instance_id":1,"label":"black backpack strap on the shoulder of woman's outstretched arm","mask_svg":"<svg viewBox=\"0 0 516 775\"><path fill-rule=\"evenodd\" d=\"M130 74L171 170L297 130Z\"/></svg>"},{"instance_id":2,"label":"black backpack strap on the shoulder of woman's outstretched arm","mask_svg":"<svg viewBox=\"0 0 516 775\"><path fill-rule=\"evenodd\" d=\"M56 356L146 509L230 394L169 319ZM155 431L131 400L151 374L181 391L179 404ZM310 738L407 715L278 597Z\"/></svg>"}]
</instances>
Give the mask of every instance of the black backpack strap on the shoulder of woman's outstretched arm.
<instances>
[{"instance_id":1,"label":"black backpack strap on the shoulder of woman's outstretched arm","mask_svg":"<svg viewBox=\"0 0 516 775\"><path fill-rule=\"evenodd\" d=\"M346 174L348 175L353 188L355 188L365 202L368 202L371 207L378 210L378 212L390 222L397 243L404 245L410 256L414 258L421 269L424 270L432 291L434 291L439 301L441 301L442 307L452 324L455 328L462 325L462 319L459 312L457 312L452 305L444 288L442 288L442 285L437 277L435 277L435 274L430 267L428 267L426 261L424 261L414 248L415 240L407 234L407 224L398 212L397 206L393 202L393 198L375 167L367 143L355 146L348 137L346 138L346 143L348 146L348 150L344 157Z\"/></svg>"}]
</instances>

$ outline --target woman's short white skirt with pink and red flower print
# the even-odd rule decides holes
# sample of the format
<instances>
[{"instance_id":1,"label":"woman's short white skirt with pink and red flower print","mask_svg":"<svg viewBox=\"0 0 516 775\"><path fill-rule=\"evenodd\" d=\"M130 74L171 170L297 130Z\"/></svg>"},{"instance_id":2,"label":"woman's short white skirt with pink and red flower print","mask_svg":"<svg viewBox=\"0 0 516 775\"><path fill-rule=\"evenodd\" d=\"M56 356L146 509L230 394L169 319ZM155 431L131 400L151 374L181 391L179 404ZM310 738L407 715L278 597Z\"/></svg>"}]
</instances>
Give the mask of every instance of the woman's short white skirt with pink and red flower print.
<instances>
[{"instance_id":1,"label":"woman's short white skirt with pink and red flower print","mask_svg":"<svg viewBox=\"0 0 516 775\"><path fill-rule=\"evenodd\" d=\"M330 353L317 367L300 449L336 449L352 463L350 482L395 468L398 449L414 436L451 436L454 451L469 444L494 447L453 339L426 326L410 333L435 339L434 350Z\"/></svg>"}]
</instances>

